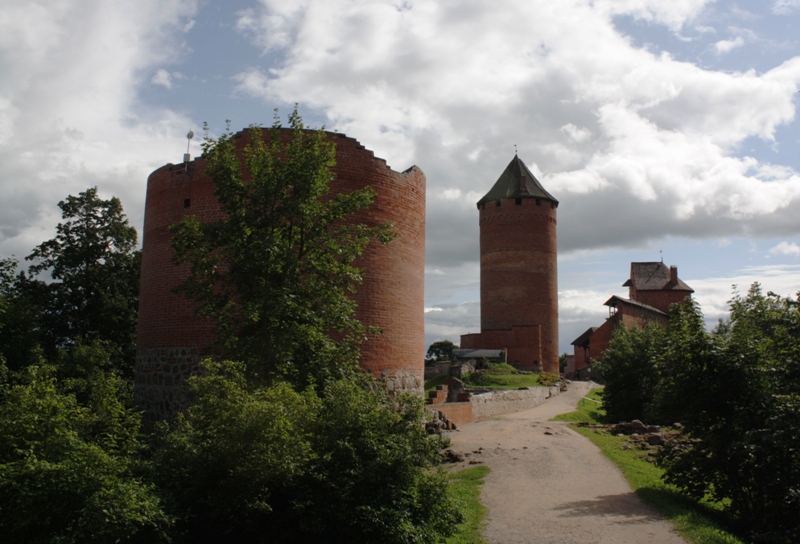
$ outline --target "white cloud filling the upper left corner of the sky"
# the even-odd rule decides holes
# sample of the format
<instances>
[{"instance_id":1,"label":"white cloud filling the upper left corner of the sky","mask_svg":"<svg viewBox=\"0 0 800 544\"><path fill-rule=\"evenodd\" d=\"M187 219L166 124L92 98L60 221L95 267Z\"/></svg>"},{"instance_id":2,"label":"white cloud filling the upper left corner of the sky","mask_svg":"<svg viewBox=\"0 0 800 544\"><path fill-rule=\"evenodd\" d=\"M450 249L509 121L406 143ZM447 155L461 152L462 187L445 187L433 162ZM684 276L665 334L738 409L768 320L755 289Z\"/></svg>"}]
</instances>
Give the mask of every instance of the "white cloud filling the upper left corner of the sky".
<instances>
[{"instance_id":1,"label":"white cloud filling the upper left corner of the sky","mask_svg":"<svg viewBox=\"0 0 800 544\"><path fill-rule=\"evenodd\" d=\"M148 109L137 90L183 51L195 0L87 0L0 8L0 252L26 255L53 235L57 202L97 185L133 223L147 175L190 121Z\"/></svg>"}]
</instances>

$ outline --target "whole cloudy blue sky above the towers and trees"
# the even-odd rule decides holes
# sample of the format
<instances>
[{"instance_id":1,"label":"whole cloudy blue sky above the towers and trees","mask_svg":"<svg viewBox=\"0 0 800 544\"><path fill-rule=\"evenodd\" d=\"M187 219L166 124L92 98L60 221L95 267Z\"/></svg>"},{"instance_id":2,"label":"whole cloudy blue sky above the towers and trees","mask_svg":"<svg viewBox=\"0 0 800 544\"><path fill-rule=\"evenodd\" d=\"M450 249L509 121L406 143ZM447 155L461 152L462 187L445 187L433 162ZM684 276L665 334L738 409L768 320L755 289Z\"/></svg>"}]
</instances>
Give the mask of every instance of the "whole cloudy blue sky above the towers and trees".
<instances>
[{"instance_id":1,"label":"whole cloudy blue sky above the towers and trees","mask_svg":"<svg viewBox=\"0 0 800 544\"><path fill-rule=\"evenodd\" d=\"M633 261L709 326L800 291L800 0L4 0L0 257L97 186L141 232L186 133L307 125L427 177L426 345L480 329L476 202L520 158L559 201L559 344Z\"/></svg>"}]
</instances>

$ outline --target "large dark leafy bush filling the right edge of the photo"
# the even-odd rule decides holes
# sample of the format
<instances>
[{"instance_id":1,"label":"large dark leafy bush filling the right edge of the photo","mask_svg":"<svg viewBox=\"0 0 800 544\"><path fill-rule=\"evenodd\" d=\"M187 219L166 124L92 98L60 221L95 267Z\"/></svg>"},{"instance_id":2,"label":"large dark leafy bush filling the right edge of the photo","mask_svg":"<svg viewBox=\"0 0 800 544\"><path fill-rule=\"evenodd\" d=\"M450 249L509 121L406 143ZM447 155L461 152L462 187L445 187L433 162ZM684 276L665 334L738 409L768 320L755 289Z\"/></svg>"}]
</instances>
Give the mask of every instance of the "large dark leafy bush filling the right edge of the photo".
<instances>
[{"instance_id":1,"label":"large dark leafy bush filling the right edge of the photo","mask_svg":"<svg viewBox=\"0 0 800 544\"><path fill-rule=\"evenodd\" d=\"M754 540L800 538L800 304L754 284L714 334L673 310L662 403L696 440L663 458L690 496L725 501ZM666 398L676 399L667 402Z\"/></svg>"}]
</instances>

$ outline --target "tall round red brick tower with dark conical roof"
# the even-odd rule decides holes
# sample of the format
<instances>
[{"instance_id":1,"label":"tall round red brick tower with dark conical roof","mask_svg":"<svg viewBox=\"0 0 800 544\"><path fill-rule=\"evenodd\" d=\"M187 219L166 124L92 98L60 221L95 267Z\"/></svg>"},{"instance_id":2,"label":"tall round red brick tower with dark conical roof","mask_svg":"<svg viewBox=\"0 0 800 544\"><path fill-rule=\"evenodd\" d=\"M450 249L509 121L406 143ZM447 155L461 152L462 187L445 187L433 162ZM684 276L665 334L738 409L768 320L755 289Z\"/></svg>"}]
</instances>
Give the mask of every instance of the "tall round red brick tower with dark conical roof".
<instances>
[{"instance_id":1,"label":"tall round red brick tower with dark conical roof","mask_svg":"<svg viewBox=\"0 0 800 544\"><path fill-rule=\"evenodd\" d=\"M516 155L478 201L481 332L462 348L506 349L514 366L558 372L557 208Z\"/></svg>"}]
</instances>

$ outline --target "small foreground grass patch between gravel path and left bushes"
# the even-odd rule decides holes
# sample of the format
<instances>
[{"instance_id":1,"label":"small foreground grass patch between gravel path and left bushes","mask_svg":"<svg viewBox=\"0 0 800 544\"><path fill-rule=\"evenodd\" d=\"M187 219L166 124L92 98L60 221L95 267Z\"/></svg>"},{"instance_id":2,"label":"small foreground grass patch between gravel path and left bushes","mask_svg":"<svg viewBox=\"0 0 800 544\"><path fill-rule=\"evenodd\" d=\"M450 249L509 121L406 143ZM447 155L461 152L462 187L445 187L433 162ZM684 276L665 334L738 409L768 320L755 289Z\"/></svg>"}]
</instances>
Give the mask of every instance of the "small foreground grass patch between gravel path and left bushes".
<instances>
[{"instance_id":1,"label":"small foreground grass patch between gravel path and left bushes","mask_svg":"<svg viewBox=\"0 0 800 544\"><path fill-rule=\"evenodd\" d=\"M489 474L489 467L476 466L465 468L450 475L450 491L456 504L464 513L464 523L458 526L456 533L445 540L446 544L483 544L481 536L486 525L488 510L480 502L483 479Z\"/></svg>"}]
</instances>

